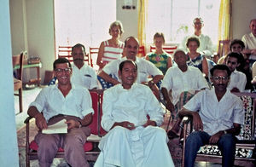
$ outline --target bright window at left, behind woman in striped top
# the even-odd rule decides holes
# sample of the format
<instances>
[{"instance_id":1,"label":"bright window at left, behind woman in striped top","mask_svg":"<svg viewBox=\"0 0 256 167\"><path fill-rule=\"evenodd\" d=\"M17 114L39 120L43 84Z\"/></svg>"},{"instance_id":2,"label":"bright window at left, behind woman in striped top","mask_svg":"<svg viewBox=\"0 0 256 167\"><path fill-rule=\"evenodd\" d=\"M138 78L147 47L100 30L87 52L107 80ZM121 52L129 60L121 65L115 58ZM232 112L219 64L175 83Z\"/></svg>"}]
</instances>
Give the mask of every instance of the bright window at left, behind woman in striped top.
<instances>
[{"instance_id":1,"label":"bright window at left, behind woman in striped top","mask_svg":"<svg viewBox=\"0 0 256 167\"><path fill-rule=\"evenodd\" d=\"M99 47L116 20L116 0L55 0L55 45ZM88 49L87 49L88 50Z\"/></svg>"}]
</instances>

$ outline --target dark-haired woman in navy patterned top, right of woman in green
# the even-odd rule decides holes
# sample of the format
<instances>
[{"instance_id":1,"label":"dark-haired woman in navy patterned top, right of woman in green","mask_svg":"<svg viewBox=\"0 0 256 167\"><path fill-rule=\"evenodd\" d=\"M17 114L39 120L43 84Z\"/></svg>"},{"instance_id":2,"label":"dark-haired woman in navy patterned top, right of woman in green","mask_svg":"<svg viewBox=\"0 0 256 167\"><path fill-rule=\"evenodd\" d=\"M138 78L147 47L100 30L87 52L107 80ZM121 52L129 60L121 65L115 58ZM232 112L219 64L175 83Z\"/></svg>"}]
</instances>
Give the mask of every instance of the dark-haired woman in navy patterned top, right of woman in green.
<instances>
[{"instance_id":1,"label":"dark-haired woman in navy patterned top, right of woman in green","mask_svg":"<svg viewBox=\"0 0 256 167\"><path fill-rule=\"evenodd\" d=\"M197 37L189 37L186 43L189 52L189 60L187 61L188 66L195 66L201 70L205 78L208 78L208 63L207 58L197 52L200 46L199 39Z\"/></svg>"}]
</instances>

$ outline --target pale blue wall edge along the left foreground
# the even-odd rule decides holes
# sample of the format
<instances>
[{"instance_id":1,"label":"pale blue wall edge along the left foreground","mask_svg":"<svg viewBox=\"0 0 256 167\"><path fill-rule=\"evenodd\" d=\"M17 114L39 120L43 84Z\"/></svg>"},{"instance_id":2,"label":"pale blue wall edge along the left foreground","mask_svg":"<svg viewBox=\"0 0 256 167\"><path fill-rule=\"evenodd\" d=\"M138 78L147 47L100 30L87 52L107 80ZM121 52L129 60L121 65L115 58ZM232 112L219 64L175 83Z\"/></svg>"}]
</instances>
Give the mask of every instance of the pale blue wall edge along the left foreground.
<instances>
[{"instance_id":1,"label":"pale blue wall edge along the left foreground","mask_svg":"<svg viewBox=\"0 0 256 167\"><path fill-rule=\"evenodd\" d=\"M9 0L1 0L0 11L0 166L18 167Z\"/></svg>"}]
</instances>

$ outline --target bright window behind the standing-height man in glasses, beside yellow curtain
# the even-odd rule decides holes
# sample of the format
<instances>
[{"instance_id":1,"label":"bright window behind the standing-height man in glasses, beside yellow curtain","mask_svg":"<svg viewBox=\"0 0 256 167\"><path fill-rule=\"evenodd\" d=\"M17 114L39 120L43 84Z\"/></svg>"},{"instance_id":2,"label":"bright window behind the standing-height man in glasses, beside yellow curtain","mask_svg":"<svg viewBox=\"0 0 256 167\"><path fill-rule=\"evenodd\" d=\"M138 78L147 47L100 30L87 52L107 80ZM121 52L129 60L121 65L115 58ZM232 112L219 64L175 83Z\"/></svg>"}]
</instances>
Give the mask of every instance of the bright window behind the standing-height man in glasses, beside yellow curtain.
<instances>
[{"instance_id":1,"label":"bright window behind the standing-height man in glasses, beside yellow curtain","mask_svg":"<svg viewBox=\"0 0 256 167\"><path fill-rule=\"evenodd\" d=\"M195 17L201 17L202 33L217 44L219 4L220 0L148 0L147 43L153 43L155 32L163 32L166 43L180 43L194 32Z\"/></svg>"}]
</instances>

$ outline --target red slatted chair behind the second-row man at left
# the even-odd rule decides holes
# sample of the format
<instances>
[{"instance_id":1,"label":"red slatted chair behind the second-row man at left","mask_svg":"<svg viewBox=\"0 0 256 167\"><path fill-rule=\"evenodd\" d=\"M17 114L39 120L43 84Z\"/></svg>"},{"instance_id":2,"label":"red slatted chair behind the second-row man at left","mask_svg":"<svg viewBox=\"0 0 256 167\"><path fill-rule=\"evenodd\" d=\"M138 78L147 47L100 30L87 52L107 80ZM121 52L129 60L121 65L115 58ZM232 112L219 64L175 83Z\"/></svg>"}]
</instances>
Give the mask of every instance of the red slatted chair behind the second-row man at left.
<instances>
[{"instance_id":1,"label":"red slatted chair behind the second-row man at left","mask_svg":"<svg viewBox=\"0 0 256 167\"><path fill-rule=\"evenodd\" d=\"M61 57L66 58L70 62L73 62L72 46L59 46L58 58L61 58ZM89 66L93 66L90 54L86 54L84 56L84 61L86 61Z\"/></svg>"}]
</instances>

